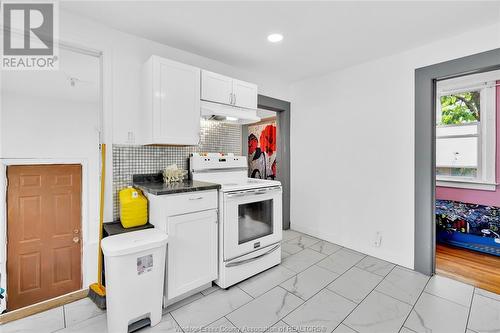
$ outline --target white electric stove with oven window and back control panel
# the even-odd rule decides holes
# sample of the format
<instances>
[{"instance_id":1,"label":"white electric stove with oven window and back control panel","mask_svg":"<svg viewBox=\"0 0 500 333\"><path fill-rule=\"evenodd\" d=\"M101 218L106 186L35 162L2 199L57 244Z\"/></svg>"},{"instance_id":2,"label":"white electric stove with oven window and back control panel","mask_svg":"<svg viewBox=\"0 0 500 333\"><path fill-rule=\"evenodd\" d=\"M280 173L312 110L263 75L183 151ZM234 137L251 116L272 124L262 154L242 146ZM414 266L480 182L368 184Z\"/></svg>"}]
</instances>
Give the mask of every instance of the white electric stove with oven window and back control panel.
<instances>
[{"instance_id":1,"label":"white electric stove with oven window and back control panel","mask_svg":"<svg viewBox=\"0 0 500 333\"><path fill-rule=\"evenodd\" d=\"M227 288L281 262L282 188L275 180L248 178L245 156L194 154L193 180L221 184L219 278Z\"/></svg>"}]
</instances>

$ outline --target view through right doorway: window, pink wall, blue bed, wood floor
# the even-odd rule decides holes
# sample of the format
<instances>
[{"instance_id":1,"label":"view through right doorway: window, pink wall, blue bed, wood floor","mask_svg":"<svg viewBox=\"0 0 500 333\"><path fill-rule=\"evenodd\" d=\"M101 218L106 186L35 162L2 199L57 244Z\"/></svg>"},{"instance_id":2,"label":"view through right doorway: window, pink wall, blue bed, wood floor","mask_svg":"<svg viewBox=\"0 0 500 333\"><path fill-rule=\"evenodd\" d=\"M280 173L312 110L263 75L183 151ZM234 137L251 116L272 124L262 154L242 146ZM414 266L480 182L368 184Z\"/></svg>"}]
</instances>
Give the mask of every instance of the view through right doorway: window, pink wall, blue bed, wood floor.
<instances>
[{"instance_id":1,"label":"view through right doorway: window, pink wall, blue bed, wood floor","mask_svg":"<svg viewBox=\"0 0 500 333\"><path fill-rule=\"evenodd\" d=\"M436 273L500 293L500 71L436 84Z\"/></svg>"}]
</instances>

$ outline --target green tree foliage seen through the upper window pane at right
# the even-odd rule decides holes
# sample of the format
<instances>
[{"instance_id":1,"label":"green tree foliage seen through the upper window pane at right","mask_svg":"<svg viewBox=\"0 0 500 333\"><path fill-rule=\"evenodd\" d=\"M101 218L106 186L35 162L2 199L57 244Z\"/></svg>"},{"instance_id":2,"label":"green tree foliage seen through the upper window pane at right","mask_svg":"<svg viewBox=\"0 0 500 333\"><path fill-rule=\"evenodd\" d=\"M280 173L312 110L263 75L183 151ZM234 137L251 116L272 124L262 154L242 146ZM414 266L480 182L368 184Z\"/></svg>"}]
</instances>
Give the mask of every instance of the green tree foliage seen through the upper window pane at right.
<instances>
[{"instance_id":1,"label":"green tree foliage seen through the upper window pane at right","mask_svg":"<svg viewBox=\"0 0 500 333\"><path fill-rule=\"evenodd\" d=\"M459 125L479 121L479 91L441 96L440 101L441 123L439 125Z\"/></svg>"}]
</instances>

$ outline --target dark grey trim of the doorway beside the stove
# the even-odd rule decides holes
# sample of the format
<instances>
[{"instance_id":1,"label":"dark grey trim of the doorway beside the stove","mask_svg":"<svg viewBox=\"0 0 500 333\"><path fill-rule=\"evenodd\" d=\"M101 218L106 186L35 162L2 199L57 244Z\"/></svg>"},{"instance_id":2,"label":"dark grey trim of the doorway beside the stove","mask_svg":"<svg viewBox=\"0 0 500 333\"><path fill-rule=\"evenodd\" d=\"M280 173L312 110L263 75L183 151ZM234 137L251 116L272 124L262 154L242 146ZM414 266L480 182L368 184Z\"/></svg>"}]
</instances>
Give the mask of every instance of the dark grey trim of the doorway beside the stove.
<instances>
[{"instance_id":1,"label":"dark grey trim of the doorway beside the stove","mask_svg":"<svg viewBox=\"0 0 500 333\"><path fill-rule=\"evenodd\" d=\"M276 111L278 122L278 174L283 186L283 229L290 229L290 102L259 95L260 109ZM242 130L242 153L248 155L248 126Z\"/></svg>"}]
</instances>

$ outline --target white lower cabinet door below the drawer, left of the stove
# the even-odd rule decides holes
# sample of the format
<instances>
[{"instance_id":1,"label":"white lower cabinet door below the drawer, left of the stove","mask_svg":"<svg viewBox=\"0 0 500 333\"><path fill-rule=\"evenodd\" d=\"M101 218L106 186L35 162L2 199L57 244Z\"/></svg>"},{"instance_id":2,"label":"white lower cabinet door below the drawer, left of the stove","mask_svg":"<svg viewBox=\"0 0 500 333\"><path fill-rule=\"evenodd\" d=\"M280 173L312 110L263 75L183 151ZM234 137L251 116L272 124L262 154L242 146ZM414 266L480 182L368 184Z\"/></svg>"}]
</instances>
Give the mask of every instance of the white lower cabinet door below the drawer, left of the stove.
<instances>
[{"instance_id":1,"label":"white lower cabinet door below the drawer, left of the stove","mask_svg":"<svg viewBox=\"0 0 500 333\"><path fill-rule=\"evenodd\" d=\"M217 278L217 210L167 218L168 299Z\"/></svg>"}]
</instances>

